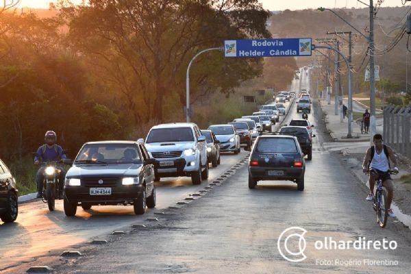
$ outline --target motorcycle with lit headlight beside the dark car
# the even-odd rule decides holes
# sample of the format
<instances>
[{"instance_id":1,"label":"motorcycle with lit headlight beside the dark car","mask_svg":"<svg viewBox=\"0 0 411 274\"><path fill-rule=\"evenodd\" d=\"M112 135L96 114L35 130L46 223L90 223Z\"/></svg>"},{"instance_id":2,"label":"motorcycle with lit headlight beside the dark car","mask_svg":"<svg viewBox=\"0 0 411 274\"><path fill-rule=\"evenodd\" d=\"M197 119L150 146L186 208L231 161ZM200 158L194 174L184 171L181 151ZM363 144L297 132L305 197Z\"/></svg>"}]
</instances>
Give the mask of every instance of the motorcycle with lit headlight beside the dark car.
<instances>
[{"instance_id":1,"label":"motorcycle with lit headlight beside the dark car","mask_svg":"<svg viewBox=\"0 0 411 274\"><path fill-rule=\"evenodd\" d=\"M62 161L59 161L62 162ZM62 172L58 167L58 162L43 162L42 170L42 197L43 203L47 203L49 210L53 211L55 208L55 199L59 199L59 176Z\"/></svg>"}]
</instances>

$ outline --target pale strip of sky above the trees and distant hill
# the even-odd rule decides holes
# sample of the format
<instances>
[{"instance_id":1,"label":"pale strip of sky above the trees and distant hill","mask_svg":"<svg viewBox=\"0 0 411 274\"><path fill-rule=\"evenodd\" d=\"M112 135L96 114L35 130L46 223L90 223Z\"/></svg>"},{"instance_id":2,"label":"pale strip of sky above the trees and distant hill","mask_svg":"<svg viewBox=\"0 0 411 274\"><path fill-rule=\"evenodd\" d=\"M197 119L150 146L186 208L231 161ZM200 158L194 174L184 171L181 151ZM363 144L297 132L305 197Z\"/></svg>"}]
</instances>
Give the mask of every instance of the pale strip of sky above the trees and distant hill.
<instances>
[{"instance_id":1,"label":"pale strip of sky above the trees and distant hill","mask_svg":"<svg viewBox=\"0 0 411 274\"><path fill-rule=\"evenodd\" d=\"M10 0L6 0L10 1ZM266 10L304 10L308 8L366 8L364 3L370 3L371 0L260 0ZM411 5L411 1L406 0L380 0L383 1L382 7L396 7L402 5ZM49 2L54 0L21 0L21 7L30 8L49 8ZM81 0L73 2L80 3ZM373 0L374 5L378 0Z\"/></svg>"}]
</instances>

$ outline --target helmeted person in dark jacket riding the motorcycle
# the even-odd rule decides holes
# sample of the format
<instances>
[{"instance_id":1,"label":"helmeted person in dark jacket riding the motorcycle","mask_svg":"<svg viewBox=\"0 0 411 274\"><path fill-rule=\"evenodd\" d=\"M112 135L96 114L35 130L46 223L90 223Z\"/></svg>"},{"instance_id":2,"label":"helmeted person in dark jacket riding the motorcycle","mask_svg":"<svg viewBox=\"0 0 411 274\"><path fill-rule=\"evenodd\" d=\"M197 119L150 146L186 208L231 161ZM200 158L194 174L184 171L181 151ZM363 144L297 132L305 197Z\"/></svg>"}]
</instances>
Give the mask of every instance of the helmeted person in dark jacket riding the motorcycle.
<instances>
[{"instance_id":1,"label":"helmeted person in dark jacket riding the motorcycle","mask_svg":"<svg viewBox=\"0 0 411 274\"><path fill-rule=\"evenodd\" d=\"M34 164L41 164L42 162L54 162L61 159L66 159L66 154L60 145L55 144L57 140L57 135L52 130L49 130L45 134L45 144L41 145L37 149L36 157L34 157ZM36 174L36 184L37 184L37 196L36 198L42 197L42 182L43 182L43 173L46 166L40 166ZM64 188L64 177L66 177L66 172L63 169L63 166L57 165L56 169L59 169L59 198L63 199L63 188Z\"/></svg>"}]
</instances>

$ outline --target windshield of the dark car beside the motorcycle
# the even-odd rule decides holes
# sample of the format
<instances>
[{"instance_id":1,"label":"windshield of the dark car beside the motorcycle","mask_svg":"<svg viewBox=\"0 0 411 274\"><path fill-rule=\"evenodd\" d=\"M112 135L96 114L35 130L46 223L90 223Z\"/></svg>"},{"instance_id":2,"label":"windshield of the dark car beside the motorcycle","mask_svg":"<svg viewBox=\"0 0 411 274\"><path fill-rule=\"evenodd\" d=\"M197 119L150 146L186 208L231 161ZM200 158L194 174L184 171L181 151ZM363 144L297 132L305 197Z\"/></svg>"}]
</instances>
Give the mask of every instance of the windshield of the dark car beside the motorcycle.
<instances>
[{"instance_id":1,"label":"windshield of the dark car beside the motorcycle","mask_svg":"<svg viewBox=\"0 0 411 274\"><path fill-rule=\"evenodd\" d=\"M86 144L75 158L76 164L140 163L137 147L130 144Z\"/></svg>"}]
</instances>

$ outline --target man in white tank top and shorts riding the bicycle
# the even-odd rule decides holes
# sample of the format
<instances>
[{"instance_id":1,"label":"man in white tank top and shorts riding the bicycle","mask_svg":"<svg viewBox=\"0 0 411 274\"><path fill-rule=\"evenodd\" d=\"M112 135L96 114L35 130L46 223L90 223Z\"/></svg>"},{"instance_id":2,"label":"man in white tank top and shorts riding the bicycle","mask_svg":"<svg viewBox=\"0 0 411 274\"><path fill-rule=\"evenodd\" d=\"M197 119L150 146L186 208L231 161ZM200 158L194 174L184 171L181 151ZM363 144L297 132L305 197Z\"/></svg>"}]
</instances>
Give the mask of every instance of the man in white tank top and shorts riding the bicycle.
<instances>
[{"instance_id":1,"label":"man in white tank top and shorts riding the bicycle","mask_svg":"<svg viewBox=\"0 0 411 274\"><path fill-rule=\"evenodd\" d=\"M369 169L377 170L377 173L384 174L382 177L382 184L388 191L387 205L388 205L388 215L390 217L395 217L393 210L391 210L391 202L393 201L393 180L387 171L390 169L390 160L394 164L394 171L399 172L397 168L397 159L395 159L394 151L387 145L382 143L382 135L375 134L373 136L374 146L367 149L364 161L362 162L362 171L364 173L368 172ZM367 201L374 200L374 184L375 180L378 179L378 175L375 173L369 173L369 186L370 192L366 197Z\"/></svg>"}]
</instances>

